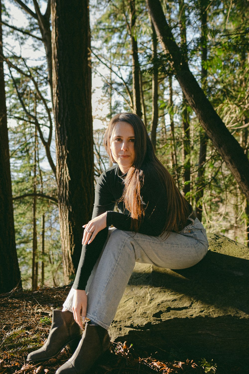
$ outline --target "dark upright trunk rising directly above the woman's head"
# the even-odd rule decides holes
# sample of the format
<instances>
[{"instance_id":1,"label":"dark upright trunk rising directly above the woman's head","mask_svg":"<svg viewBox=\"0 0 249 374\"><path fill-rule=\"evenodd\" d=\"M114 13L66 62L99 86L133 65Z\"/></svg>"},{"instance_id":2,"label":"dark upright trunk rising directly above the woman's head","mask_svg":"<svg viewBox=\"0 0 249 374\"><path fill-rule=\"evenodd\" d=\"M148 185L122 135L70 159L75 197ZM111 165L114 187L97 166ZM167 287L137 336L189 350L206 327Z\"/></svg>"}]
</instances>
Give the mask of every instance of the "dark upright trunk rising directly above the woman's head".
<instances>
[{"instance_id":1,"label":"dark upright trunk rising directly above the woman's head","mask_svg":"<svg viewBox=\"0 0 249 374\"><path fill-rule=\"evenodd\" d=\"M135 0L130 0L130 33L132 50L132 87L133 87L133 111L142 118L141 93L140 93L140 65L138 61L137 39L135 35L136 9Z\"/></svg>"}]
</instances>

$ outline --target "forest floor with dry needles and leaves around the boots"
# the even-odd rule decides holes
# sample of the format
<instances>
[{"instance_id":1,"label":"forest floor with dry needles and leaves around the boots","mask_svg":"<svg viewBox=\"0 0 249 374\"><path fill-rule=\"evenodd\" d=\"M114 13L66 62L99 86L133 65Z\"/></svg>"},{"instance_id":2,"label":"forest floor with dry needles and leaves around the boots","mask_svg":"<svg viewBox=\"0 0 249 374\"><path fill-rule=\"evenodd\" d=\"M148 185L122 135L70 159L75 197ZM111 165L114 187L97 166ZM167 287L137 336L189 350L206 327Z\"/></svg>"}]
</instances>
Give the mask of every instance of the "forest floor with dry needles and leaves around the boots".
<instances>
[{"instance_id":1,"label":"forest floor with dry needles and leaves around the boots","mask_svg":"<svg viewBox=\"0 0 249 374\"><path fill-rule=\"evenodd\" d=\"M46 340L52 310L62 307L68 291L69 286L42 288L38 291L16 290L0 295L0 374L53 374L69 359L70 353L63 349L56 358L43 363L32 365L26 362L28 353L38 349ZM156 372L220 373L212 363L197 364L188 359L185 362L165 362L147 357L146 352L141 352L139 347L120 342L112 343L112 355L105 362L94 365L89 374Z\"/></svg>"}]
</instances>

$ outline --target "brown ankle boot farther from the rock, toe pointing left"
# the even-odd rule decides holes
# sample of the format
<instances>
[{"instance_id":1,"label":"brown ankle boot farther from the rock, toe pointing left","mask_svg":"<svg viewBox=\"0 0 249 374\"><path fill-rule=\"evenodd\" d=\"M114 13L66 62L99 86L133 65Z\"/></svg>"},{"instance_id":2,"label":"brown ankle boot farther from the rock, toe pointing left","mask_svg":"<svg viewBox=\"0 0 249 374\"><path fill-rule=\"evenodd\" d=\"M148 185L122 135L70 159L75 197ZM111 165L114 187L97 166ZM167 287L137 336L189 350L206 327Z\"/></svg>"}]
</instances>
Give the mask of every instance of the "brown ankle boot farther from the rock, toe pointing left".
<instances>
[{"instance_id":1,"label":"brown ankle boot farther from the rock, toe pointing left","mask_svg":"<svg viewBox=\"0 0 249 374\"><path fill-rule=\"evenodd\" d=\"M53 310L52 326L46 343L40 349L29 353L27 361L44 361L53 358L66 346L70 345L73 353L81 339L82 331L69 310Z\"/></svg>"}]
</instances>

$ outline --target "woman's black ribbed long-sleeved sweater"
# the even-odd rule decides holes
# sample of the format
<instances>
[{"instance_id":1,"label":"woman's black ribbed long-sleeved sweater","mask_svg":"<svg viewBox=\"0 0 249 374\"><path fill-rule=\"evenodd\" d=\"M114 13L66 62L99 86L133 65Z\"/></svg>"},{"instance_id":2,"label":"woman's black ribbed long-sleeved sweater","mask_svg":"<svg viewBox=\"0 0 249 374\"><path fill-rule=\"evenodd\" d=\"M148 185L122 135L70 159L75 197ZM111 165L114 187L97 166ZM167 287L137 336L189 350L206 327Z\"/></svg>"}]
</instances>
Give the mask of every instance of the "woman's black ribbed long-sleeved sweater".
<instances>
[{"instance_id":1,"label":"woman's black ribbed long-sleeved sweater","mask_svg":"<svg viewBox=\"0 0 249 374\"><path fill-rule=\"evenodd\" d=\"M123 202L118 202L118 212L113 212L115 203L121 198L124 191L124 181L118 175L118 165L112 166L100 175L95 190L95 201L92 218L107 212L106 228L101 230L93 242L83 245L80 263L78 265L73 288L85 289L88 278L105 244L108 227L113 225L116 229L132 231L131 217ZM167 212L167 193L165 186L153 173L144 172L144 185L141 188L141 199L145 207L145 215L138 229L139 233L159 236L165 227ZM190 205L190 213L192 207Z\"/></svg>"}]
</instances>

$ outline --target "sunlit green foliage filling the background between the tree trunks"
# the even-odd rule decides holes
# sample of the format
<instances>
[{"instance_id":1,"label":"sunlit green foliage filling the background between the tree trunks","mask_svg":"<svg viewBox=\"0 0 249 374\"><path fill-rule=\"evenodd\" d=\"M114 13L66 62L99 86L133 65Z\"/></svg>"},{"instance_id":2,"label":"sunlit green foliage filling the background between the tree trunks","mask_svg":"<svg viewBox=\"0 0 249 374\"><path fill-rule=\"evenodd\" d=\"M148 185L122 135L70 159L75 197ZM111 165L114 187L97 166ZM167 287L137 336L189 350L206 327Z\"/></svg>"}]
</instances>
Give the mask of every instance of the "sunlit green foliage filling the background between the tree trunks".
<instances>
[{"instance_id":1,"label":"sunlit green foliage filling the background between the tree trunks","mask_svg":"<svg viewBox=\"0 0 249 374\"><path fill-rule=\"evenodd\" d=\"M31 4L31 2L28 2ZM13 3L15 4L15 3ZM206 4L206 5L205 5ZM201 42L201 15L205 5L207 12L207 40ZM179 2L162 2L164 13L178 45L181 45L180 23L182 9ZM93 73L102 77L103 97L100 104L108 108L108 114L100 119L103 129L113 114L133 111L132 59L130 38L130 6L127 0L90 2L92 14L91 66ZM227 128L248 152L248 30L249 14L247 1L185 1L187 56L190 69L202 84L201 65L207 70L205 92ZM24 12L25 14L25 12ZM133 15L134 16L134 15ZM4 4L3 18L12 24L8 2ZM21 30L40 37L37 21L27 17ZM52 102L47 78L46 53L41 40L31 38L3 25L4 55L12 63L5 66L6 102L9 120L9 148L12 173L12 193L15 217L16 244L19 265L25 288L31 287L33 204L37 193L57 196L57 183L51 165L47 162L42 137L47 141L53 125ZM184 101L180 86L172 71L170 56L162 50L160 43L157 56L152 58L152 28L144 1L136 1L136 24L133 30L138 43L141 70L141 85L145 107L147 129L150 132L152 118L152 79L158 69L158 127L156 153L169 169L178 188L190 187L186 193L193 208L202 204L202 221L210 232L222 232L242 242L246 239L245 226L249 217L245 212L245 197L210 141L207 144L206 160L202 165L203 175L198 176L200 124L187 105L190 144L186 144L183 132ZM7 45L11 36L13 45ZM9 39L8 39L9 40ZM35 59L26 56L27 45L32 53L43 51ZM201 52L207 46L208 58L201 62ZM11 51L11 52L10 52ZM19 52L17 52L19 51ZM23 55L23 56L22 56ZM172 98L170 91L172 91ZM18 94L19 96L18 96ZM41 132L35 140L35 121ZM37 126L36 126L37 127ZM94 132L95 177L109 167L103 148L103 129ZM187 150L187 155L184 156ZM34 153L36 150L36 157ZM50 152L55 159L55 139L52 136ZM55 163L55 160L54 160ZM34 173L34 165L36 173ZM190 180L184 172L190 165ZM36 174L36 176L34 175ZM203 196L199 196L203 191ZM24 196L29 195L29 196ZM23 197L21 197L23 196ZM20 198L18 198L20 197ZM58 208L55 202L45 197L36 199L38 285L61 285L62 254ZM42 253L42 217L45 218L44 254ZM44 279L41 266L44 264Z\"/></svg>"}]
</instances>

